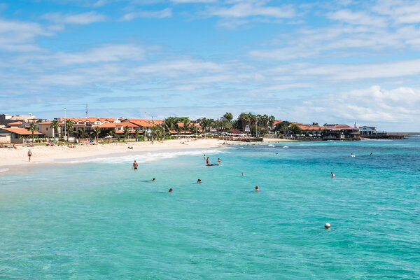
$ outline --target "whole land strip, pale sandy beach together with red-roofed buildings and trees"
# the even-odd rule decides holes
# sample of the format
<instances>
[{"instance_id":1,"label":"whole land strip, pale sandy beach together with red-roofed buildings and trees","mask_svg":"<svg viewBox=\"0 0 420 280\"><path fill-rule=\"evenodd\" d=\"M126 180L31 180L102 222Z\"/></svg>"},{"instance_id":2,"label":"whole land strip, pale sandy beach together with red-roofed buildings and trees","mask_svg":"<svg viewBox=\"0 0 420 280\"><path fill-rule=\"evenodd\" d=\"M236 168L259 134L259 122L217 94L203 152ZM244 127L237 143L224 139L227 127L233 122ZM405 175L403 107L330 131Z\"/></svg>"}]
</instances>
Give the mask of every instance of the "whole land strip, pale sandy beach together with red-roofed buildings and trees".
<instances>
[{"instance_id":1,"label":"whole land strip, pale sandy beach together with red-roofed buildings and trees","mask_svg":"<svg viewBox=\"0 0 420 280\"><path fill-rule=\"evenodd\" d=\"M244 142L357 141L391 137L376 127L304 124L274 116L225 113L217 120L169 117L54 118L0 115L0 167L56 162L132 151L214 148ZM400 136L399 136L400 137Z\"/></svg>"}]
</instances>

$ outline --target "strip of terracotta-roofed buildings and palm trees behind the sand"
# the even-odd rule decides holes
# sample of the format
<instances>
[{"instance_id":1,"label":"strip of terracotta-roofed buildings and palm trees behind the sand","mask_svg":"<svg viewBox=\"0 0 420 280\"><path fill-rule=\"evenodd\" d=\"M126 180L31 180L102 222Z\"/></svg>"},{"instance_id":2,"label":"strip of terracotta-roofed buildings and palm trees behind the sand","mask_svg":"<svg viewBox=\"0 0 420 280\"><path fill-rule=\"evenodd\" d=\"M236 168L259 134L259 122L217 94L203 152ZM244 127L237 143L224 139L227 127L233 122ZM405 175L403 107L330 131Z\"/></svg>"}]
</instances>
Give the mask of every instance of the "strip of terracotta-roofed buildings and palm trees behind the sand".
<instances>
[{"instance_id":1,"label":"strip of terracotta-roofed buildings and palm trees behind the sand","mask_svg":"<svg viewBox=\"0 0 420 280\"><path fill-rule=\"evenodd\" d=\"M241 113L235 120L231 113L218 119L169 117L148 118L54 118L0 115L1 144L78 144L83 141L153 141L211 137L237 141L261 141L263 138L286 140L360 140L385 137L374 126L343 124L319 125L286 121L267 115Z\"/></svg>"}]
</instances>

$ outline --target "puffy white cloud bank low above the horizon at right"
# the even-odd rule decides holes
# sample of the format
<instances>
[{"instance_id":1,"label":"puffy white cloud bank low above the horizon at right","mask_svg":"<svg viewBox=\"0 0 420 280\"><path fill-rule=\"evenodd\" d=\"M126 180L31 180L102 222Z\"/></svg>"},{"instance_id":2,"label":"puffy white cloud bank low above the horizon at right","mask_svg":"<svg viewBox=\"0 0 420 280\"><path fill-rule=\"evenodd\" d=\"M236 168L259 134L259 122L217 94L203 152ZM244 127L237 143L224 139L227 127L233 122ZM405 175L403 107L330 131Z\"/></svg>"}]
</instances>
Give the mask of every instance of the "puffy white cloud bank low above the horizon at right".
<instances>
[{"instance_id":1,"label":"puffy white cloud bank low above the horizon at right","mask_svg":"<svg viewBox=\"0 0 420 280\"><path fill-rule=\"evenodd\" d=\"M411 87L398 87L385 90L379 85L360 89L327 94L319 99L310 99L309 104L296 106L300 118L343 120L346 123L357 121L374 125L375 123L403 123L402 126L419 130L420 90ZM309 112L311 116L307 114ZM297 116L295 116L297 117Z\"/></svg>"}]
</instances>

